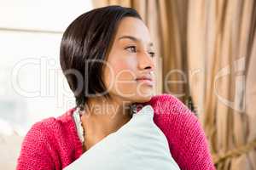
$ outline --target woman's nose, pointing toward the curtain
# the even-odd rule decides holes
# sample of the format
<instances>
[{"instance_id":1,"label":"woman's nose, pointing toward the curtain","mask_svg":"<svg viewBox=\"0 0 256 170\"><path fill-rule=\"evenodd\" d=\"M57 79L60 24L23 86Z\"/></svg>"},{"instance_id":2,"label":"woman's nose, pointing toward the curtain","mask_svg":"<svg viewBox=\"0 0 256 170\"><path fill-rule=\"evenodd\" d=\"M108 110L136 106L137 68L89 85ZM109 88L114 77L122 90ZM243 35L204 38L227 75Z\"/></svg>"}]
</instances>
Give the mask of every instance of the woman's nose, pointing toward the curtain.
<instances>
[{"instance_id":1,"label":"woman's nose, pointing toward the curtain","mask_svg":"<svg viewBox=\"0 0 256 170\"><path fill-rule=\"evenodd\" d=\"M138 56L139 70L154 71L154 59L148 54L148 52L141 52Z\"/></svg>"}]
</instances>

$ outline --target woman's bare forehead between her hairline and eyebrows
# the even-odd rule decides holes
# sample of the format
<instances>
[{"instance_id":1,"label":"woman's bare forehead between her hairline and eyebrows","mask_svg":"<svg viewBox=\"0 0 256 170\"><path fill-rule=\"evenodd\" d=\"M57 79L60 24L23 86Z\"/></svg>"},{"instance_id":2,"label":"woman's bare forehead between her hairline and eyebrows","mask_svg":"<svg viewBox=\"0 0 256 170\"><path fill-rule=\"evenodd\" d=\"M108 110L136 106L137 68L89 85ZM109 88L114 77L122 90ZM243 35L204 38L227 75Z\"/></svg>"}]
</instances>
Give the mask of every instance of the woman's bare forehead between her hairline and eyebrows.
<instances>
[{"instance_id":1,"label":"woman's bare forehead between her hairline and eyebrows","mask_svg":"<svg viewBox=\"0 0 256 170\"><path fill-rule=\"evenodd\" d=\"M122 36L137 37L143 42L151 42L148 27L143 23L143 20L134 17L125 17L120 21L115 39Z\"/></svg>"}]
</instances>

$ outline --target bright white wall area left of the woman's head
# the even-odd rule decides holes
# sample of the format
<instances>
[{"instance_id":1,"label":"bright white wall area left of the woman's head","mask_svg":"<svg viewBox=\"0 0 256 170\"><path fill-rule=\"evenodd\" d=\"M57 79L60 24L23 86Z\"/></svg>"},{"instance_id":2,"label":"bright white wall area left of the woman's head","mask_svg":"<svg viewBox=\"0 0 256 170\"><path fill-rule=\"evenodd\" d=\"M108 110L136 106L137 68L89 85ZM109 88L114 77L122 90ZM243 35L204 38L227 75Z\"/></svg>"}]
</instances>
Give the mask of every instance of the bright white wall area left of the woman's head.
<instances>
[{"instance_id":1,"label":"bright white wall area left of the woman's head","mask_svg":"<svg viewBox=\"0 0 256 170\"><path fill-rule=\"evenodd\" d=\"M61 36L92 6L89 0L0 4L0 133L11 134L3 130L9 126L25 135L32 123L74 106L59 65Z\"/></svg>"}]
</instances>

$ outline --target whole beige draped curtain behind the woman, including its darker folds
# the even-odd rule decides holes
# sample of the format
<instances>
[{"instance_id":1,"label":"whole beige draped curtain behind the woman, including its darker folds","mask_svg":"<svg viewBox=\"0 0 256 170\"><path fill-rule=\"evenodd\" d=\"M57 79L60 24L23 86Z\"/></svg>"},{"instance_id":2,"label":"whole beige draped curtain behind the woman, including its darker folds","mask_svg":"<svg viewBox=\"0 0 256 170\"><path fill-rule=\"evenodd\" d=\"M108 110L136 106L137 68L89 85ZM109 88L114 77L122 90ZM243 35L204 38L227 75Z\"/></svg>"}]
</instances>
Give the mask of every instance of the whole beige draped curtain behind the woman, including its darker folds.
<instances>
[{"instance_id":1,"label":"whole beige draped curtain behind the woman, including its darker folds","mask_svg":"<svg viewBox=\"0 0 256 170\"><path fill-rule=\"evenodd\" d=\"M255 1L95 0L94 4L137 9L158 54L156 94L174 94L184 103L192 95L218 169L256 169Z\"/></svg>"}]
</instances>

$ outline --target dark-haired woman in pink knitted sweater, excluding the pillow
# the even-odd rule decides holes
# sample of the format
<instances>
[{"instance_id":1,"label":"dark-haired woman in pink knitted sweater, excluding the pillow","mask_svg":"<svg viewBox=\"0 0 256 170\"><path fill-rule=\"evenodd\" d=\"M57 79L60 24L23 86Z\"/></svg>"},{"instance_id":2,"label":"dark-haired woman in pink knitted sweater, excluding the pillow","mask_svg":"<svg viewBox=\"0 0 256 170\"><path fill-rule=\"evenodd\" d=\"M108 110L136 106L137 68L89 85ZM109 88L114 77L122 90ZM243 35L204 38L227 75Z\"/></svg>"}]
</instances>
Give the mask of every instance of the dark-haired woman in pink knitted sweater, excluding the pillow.
<instances>
[{"instance_id":1,"label":"dark-haired woman in pink knitted sweater, excluding the pillow","mask_svg":"<svg viewBox=\"0 0 256 170\"><path fill-rule=\"evenodd\" d=\"M172 95L153 96L153 42L136 10L108 6L80 15L64 32L60 55L76 107L32 126L17 169L67 167L129 122L139 104L154 109L181 169L214 169L194 114Z\"/></svg>"}]
</instances>

